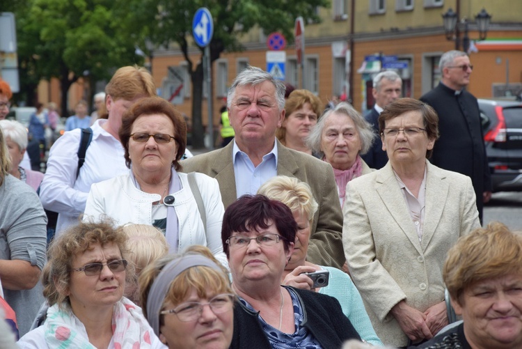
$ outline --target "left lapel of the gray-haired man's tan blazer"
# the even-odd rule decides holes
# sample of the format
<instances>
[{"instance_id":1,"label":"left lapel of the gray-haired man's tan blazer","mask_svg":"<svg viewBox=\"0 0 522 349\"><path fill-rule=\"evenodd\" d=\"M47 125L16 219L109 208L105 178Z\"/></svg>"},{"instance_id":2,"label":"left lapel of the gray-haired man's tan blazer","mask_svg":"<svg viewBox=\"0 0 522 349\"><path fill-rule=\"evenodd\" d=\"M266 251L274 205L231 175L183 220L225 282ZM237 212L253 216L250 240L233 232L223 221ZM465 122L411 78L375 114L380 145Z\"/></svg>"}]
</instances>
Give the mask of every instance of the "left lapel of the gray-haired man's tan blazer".
<instances>
[{"instance_id":1,"label":"left lapel of the gray-haired man's tan blazer","mask_svg":"<svg viewBox=\"0 0 522 349\"><path fill-rule=\"evenodd\" d=\"M212 162L214 178L219 182L221 200L225 208L237 200L236 178L234 174L234 163L232 162L232 149L234 142L231 141L225 148L216 152Z\"/></svg>"}]
</instances>

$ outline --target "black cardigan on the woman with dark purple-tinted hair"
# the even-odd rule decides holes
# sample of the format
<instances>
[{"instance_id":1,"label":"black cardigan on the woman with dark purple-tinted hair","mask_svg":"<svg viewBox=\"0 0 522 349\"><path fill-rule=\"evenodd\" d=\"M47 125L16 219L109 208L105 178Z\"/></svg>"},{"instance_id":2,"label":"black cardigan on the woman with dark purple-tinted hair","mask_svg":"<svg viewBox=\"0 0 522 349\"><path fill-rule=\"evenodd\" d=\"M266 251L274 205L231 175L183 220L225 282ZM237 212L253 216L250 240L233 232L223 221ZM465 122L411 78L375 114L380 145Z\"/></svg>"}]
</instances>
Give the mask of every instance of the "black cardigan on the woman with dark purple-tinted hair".
<instances>
[{"instance_id":1,"label":"black cardigan on the woman with dark purple-tinted hair","mask_svg":"<svg viewBox=\"0 0 522 349\"><path fill-rule=\"evenodd\" d=\"M348 339L361 340L350 320L342 313L338 300L309 290L292 290L303 304L304 319L301 325L315 336L323 348L337 349ZM271 348L258 320L258 313L248 310L242 302L236 302L234 307L234 335L230 348Z\"/></svg>"}]
</instances>

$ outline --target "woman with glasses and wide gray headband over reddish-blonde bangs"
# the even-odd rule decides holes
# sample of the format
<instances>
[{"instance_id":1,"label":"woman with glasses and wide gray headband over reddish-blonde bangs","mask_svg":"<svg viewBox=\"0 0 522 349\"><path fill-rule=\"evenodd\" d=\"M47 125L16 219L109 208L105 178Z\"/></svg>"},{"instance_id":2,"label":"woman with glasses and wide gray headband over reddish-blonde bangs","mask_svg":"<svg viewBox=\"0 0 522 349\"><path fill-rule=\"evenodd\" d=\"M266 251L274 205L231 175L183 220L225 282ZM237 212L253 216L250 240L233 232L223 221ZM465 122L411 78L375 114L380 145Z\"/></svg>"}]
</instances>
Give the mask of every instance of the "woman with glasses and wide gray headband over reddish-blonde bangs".
<instances>
[{"instance_id":1,"label":"woman with glasses and wide gray headband over reddish-blonde bangs","mask_svg":"<svg viewBox=\"0 0 522 349\"><path fill-rule=\"evenodd\" d=\"M157 259L139 286L143 313L168 348L229 348L235 294L228 271L207 247Z\"/></svg>"}]
</instances>

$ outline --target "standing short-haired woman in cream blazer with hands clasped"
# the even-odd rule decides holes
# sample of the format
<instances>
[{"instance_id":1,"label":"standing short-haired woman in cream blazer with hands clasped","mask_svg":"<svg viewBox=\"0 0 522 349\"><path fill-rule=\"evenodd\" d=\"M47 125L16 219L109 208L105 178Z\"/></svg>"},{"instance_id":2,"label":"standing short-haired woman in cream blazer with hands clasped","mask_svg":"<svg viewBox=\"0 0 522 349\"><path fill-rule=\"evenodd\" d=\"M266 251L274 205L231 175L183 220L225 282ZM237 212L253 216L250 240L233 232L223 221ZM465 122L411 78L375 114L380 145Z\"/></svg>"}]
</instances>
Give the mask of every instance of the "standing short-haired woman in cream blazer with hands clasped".
<instances>
[{"instance_id":1,"label":"standing short-haired woman in cream blazer with hands clasped","mask_svg":"<svg viewBox=\"0 0 522 349\"><path fill-rule=\"evenodd\" d=\"M448 324L443 262L480 222L470 178L427 160L438 138L432 107L396 100L379 116L379 131L389 161L348 183L343 245L377 335L401 347Z\"/></svg>"}]
</instances>

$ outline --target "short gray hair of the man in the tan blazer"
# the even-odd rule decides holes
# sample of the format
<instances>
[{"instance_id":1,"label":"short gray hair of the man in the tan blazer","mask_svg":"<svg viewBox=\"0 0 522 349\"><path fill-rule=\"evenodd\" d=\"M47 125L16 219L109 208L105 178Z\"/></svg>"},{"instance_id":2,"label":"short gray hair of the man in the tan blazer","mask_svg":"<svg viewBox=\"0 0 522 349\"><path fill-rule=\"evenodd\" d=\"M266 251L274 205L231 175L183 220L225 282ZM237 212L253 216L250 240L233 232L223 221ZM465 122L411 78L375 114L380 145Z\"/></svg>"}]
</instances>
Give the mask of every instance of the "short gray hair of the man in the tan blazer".
<instances>
[{"instance_id":1,"label":"short gray hair of the man in the tan blazer","mask_svg":"<svg viewBox=\"0 0 522 349\"><path fill-rule=\"evenodd\" d=\"M240 72L234 79L234 82L232 82L232 86L228 89L227 107L230 108L230 105L232 105L237 86L257 85L263 82L271 82L271 84L274 85L279 110L283 110L285 108L285 83L274 78L269 72L265 72L258 67L252 67L251 65L248 65L245 70Z\"/></svg>"}]
</instances>

